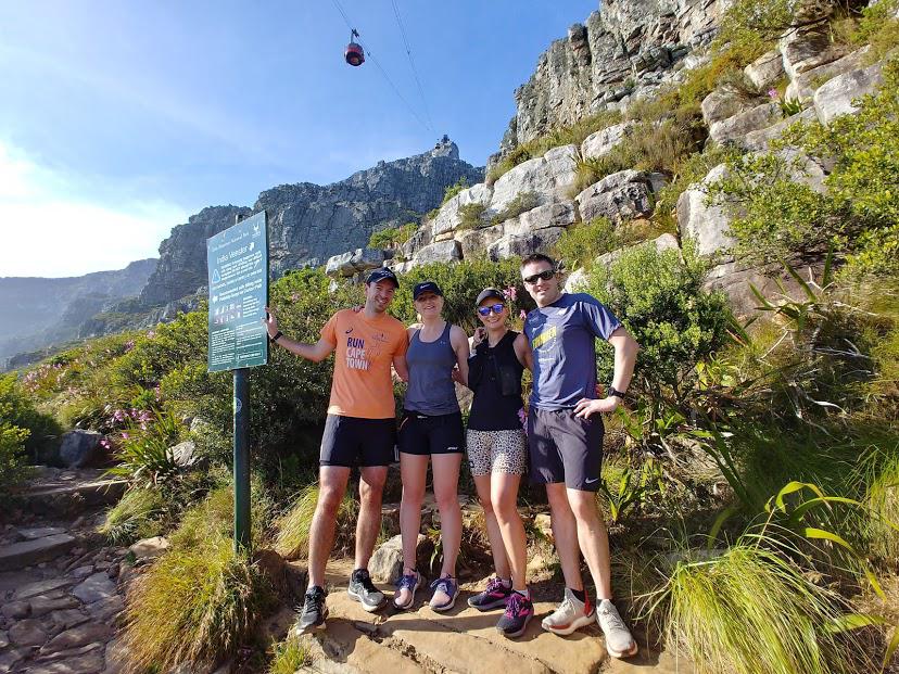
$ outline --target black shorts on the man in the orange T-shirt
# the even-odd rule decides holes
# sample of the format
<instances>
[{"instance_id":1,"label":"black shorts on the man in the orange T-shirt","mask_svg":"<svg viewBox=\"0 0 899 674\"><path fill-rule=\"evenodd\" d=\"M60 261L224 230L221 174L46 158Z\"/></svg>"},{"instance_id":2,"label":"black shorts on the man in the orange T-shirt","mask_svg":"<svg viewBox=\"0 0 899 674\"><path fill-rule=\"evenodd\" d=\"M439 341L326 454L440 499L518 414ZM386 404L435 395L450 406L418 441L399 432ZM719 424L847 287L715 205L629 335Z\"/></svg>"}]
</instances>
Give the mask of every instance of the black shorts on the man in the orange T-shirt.
<instances>
[{"instance_id":1,"label":"black shorts on the man in the orange T-shirt","mask_svg":"<svg viewBox=\"0 0 899 674\"><path fill-rule=\"evenodd\" d=\"M396 419L328 415L321 436L321 466L390 466L396 456Z\"/></svg>"}]
</instances>

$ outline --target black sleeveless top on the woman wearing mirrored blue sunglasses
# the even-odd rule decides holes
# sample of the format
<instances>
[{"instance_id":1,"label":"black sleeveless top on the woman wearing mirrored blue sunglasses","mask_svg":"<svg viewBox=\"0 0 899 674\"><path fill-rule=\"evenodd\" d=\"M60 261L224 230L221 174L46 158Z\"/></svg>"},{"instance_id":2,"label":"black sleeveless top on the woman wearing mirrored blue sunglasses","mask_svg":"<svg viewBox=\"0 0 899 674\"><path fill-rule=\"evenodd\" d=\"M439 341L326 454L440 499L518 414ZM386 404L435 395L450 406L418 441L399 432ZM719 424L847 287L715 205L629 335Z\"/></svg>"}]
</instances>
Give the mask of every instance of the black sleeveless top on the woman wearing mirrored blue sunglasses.
<instances>
[{"instance_id":1,"label":"black sleeveless top on the woman wearing mirrored blue sunglasses","mask_svg":"<svg viewBox=\"0 0 899 674\"><path fill-rule=\"evenodd\" d=\"M468 387L474 393L468 428L472 431L521 429L521 374L524 366L515 355L515 338L509 330L494 347L486 339L468 359Z\"/></svg>"}]
</instances>

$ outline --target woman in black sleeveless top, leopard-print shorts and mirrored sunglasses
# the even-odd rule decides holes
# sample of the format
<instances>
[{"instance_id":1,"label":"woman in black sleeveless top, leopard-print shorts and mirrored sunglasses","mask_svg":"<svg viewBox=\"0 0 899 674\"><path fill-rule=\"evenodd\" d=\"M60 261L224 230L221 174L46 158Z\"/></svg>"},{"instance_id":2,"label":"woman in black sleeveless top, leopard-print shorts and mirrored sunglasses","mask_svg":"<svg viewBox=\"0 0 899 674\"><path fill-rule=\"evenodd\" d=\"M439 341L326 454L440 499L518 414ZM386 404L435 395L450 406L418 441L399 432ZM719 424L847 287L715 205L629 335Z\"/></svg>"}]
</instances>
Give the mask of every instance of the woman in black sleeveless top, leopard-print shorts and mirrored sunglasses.
<instances>
[{"instance_id":1,"label":"woman in black sleeveless top, leopard-print shorts and mirrored sunglasses","mask_svg":"<svg viewBox=\"0 0 899 674\"><path fill-rule=\"evenodd\" d=\"M524 580L527 542L518 513L518 485L527 468L522 429L521 374L531 368L523 334L509 330L503 292L484 289L477 300L482 327L474 331L468 387L474 392L467 449L478 498L484 509L496 577L468 605L481 611L506 608L496 628L508 637L524 633L534 613Z\"/></svg>"}]
</instances>

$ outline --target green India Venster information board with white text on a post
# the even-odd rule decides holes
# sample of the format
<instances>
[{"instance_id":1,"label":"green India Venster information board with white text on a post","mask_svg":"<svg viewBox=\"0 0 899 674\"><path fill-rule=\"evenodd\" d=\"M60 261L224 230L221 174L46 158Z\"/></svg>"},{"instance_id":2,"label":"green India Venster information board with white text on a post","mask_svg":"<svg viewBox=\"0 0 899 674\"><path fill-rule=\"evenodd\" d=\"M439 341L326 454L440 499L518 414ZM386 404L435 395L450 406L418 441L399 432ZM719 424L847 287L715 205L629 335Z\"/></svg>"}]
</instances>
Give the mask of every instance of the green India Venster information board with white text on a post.
<instances>
[{"instance_id":1,"label":"green India Venster information board with white text on a post","mask_svg":"<svg viewBox=\"0 0 899 674\"><path fill-rule=\"evenodd\" d=\"M210 372L268 363L268 222L265 211L206 239Z\"/></svg>"}]
</instances>

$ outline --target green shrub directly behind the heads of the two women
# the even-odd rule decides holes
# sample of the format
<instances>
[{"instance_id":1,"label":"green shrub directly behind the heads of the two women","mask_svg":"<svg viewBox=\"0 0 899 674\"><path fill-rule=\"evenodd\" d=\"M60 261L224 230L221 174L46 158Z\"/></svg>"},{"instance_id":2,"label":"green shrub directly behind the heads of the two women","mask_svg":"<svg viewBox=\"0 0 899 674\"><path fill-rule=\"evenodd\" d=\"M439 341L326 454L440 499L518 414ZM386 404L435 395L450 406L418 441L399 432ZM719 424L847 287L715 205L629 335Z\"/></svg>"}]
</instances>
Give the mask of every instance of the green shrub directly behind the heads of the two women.
<instances>
[{"instance_id":1,"label":"green shrub directly behind the heads of the two women","mask_svg":"<svg viewBox=\"0 0 899 674\"><path fill-rule=\"evenodd\" d=\"M393 313L405 323L418 320L411 298L413 287L426 280L435 281L444 293L443 317L460 326L469 334L480 322L474 311L474 300L486 287L515 288L519 304L510 306L512 315L533 307L521 288L520 260L516 257L491 262L464 259L455 265L432 263L410 269L400 279L400 290L393 301Z\"/></svg>"}]
</instances>

